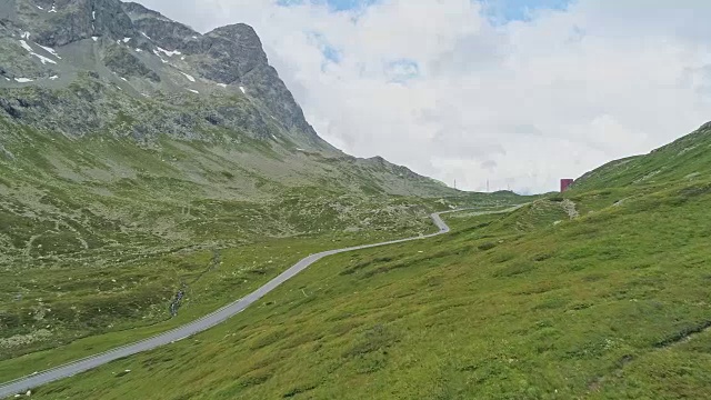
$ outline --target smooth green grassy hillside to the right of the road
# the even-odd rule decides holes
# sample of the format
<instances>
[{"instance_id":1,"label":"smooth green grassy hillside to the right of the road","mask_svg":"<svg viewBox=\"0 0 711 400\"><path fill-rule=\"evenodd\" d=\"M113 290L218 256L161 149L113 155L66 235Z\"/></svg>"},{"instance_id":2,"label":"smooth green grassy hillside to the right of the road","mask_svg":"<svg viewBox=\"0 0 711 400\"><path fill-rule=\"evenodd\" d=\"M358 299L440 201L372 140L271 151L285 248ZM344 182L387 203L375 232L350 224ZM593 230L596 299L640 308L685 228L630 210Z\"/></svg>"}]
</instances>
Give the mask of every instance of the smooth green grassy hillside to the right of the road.
<instances>
[{"instance_id":1,"label":"smooth green grassy hillside to the right of the road","mask_svg":"<svg viewBox=\"0 0 711 400\"><path fill-rule=\"evenodd\" d=\"M602 190L451 214L449 236L327 258L220 327L36 394L705 398L711 179L664 170L653 186L617 188L615 172Z\"/></svg>"}]
</instances>

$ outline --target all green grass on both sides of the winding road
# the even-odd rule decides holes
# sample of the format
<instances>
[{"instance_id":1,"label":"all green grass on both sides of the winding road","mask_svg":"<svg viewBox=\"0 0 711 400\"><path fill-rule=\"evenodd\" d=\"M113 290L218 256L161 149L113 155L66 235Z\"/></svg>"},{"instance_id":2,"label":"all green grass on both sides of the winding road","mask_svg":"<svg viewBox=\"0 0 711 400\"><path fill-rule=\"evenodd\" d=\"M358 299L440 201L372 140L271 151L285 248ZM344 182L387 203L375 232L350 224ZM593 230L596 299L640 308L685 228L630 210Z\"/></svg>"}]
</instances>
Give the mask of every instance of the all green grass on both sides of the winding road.
<instances>
[{"instance_id":1,"label":"all green grass on both sides of the winding road","mask_svg":"<svg viewBox=\"0 0 711 400\"><path fill-rule=\"evenodd\" d=\"M33 397L705 398L708 136L512 212L448 214L444 237L329 257L214 329ZM307 253L431 230L432 210L523 200L387 196L372 166L323 176L356 163L320 156L297 184L250 140L97 137L83 152L24 138L9 147L21 161L0 163L3 381L192 320ZM96 157L108 153L122 169ZM78 180L90 170L111 179Z\"/></svg>"}]
</instances>

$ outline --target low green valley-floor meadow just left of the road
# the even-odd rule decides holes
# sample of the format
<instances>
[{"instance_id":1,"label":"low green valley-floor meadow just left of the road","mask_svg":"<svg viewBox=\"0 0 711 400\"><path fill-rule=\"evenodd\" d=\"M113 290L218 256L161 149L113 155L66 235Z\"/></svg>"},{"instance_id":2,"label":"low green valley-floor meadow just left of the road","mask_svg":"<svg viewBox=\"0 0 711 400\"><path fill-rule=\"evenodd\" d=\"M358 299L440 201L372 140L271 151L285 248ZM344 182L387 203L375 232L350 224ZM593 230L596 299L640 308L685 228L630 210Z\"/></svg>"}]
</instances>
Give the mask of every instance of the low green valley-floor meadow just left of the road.
<instances>
[{"instance_id":1,"label":"low green valley-floor meadow just left of the road","mask_svg":"<svg viewBox=\"0 0 711 400\"><path fill-rule=\"evenodd\" d=\"M310 253L361 242L361 238L348 237L274 239L219 250L218 264L211 262L214 251L199 251L129 263L119 273L116 269L97 273L90 268L83 272L38 271L23 277L32 282L31 291L21 297L24 301L18 300L17 291L2 293L2 301L12 304L3 311L2 321L11 330L6 332L9 337L47 324L52 339L16 347L14 353L3 352L8 359L0 361L0 376L3 381L21 377L169 330L256 290ZM276 253L274 249L284 251ZM151 274L148 268L161 274ZM187 291L186 300L178 316L170 318L168 306L181 288ZM46 297L39 309L44 310L41 320L36 318L37 296Z\"/></svg>"}]
</instances>

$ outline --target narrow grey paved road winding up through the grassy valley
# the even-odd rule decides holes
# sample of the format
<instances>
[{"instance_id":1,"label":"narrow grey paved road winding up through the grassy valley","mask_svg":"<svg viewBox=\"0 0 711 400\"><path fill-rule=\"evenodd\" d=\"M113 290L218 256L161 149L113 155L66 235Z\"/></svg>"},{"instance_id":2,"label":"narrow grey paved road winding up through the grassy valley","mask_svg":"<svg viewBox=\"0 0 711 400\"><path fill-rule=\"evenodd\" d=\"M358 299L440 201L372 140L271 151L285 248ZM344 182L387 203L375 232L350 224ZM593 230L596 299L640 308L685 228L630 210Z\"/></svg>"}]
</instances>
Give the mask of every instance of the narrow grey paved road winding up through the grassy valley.
<instances>
[{"instance_id":1,"label":"narrow grey paved road winding up through the grassy valley","mask_svg":"<svg viewBox=\"0 0 711 400\"><path fill-rule=\"evenodd\" d=\"M206 331L217 326L218 323L226 321L230 317L238 314L239 312L241 312L242 310L244 310L246 308L254 303L257 300L261 299L267 293L274 290L278 286L293 278L296 274L303 271L309 266L311 266L312 263L317 262L318 260L324 257L333 256L333 254L338 254L347 251L370 249L370 248L375 248L381 246L402 243L402 242L412 241L412 240L427 239L427 238L432 238L439 234L448 233L450 229L447 226L447 223L444 223L444 221L440 218L440 214L447 213L447 212L454 212L454 211L462 211L462 210L437 212L430 216L434 224L439 228L439 231L435 233L414 237L414 238L400 239L400 240L391 240L382 243L356 246L351 248L337 249L337 250L328 250L317 254L311 254L302 259L301 261L297 262L293 267L289 268L288 270L279 274L277 278L272 279L267 284L262 286L261 288L257 289L250 294L230 304L227 304L223 308L208 316L204 316L196 321L192 321L188 324L167 331L164 333L160 333L158 336L154 336L146 340L141 340L128 346L119 347L119 348L102 352L100 354L90 356L81 360L72 361L60 367L56 367L42 372L33 373L31 376L27 376L7 383L2 383L0 386L0 399L4 399L7 397L11 397L17 393L24 393L32 388L37 388L42 384L47 384L63 378L69 378L77 373L88 371L90 369L103 366L111 361L114 361L124 357L129 357L139 352L153 350L158 347L166 346L174 341L191 337L196 333Z\"/></svg>"}]
</instances>

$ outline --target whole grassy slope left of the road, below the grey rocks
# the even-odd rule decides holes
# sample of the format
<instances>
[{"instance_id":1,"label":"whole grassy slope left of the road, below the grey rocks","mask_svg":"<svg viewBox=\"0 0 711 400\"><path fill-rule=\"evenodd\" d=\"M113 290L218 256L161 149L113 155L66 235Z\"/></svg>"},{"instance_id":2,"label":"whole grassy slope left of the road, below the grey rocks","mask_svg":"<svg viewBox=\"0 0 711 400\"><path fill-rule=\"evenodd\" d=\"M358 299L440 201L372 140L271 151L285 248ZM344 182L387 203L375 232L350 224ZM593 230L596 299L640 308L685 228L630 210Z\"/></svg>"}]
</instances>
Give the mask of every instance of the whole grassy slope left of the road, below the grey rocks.
<instances>
[{"instance_id":1,"label":"whole grassy slope left of the road, below the grey rocks","mask_svg":"<svg viewBox=\"0 0 711 400\"><path fill-rule=\"evenodd\" d=\"M447 188L423 198L438 183L383 160L247 137L141 144L1 117L0 128L0 360L81 338L126 343L214 310L308 252L427 232L433 210L522 201Z\"/></svg>"}]
</instances>

